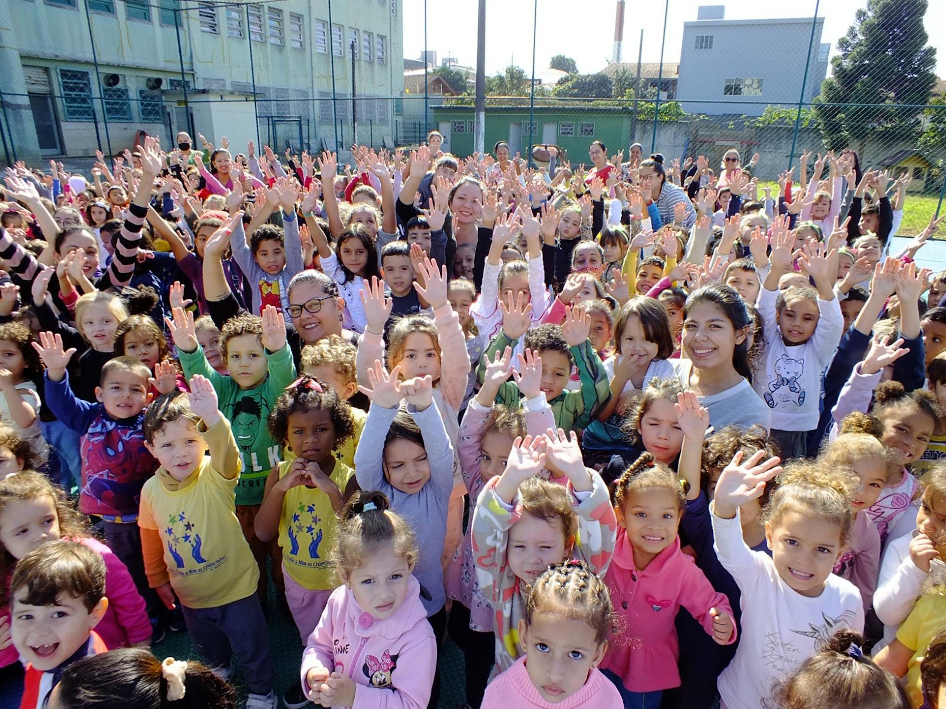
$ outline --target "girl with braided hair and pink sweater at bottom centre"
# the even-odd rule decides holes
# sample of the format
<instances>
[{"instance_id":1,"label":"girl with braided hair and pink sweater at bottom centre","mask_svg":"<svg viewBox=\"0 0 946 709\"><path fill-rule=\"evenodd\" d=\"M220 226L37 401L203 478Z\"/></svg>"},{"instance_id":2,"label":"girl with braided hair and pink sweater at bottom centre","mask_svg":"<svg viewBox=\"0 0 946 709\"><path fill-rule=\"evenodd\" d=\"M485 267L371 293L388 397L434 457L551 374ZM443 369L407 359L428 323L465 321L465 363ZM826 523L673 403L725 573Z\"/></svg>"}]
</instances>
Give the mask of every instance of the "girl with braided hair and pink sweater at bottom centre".
<instances>
[{"instance_id":1,"label":"girl with braided hair and pink sweater at bottom centre","mask_svg":"<svg viewBox=\"0 0 946 709\"><path fill-rule=\"evenodd\" d=\"M607 588L587 563L550 566L519 620L522 657L489 685L480 706L621 709L621 695L598 669L614 623Z\"/></svg>"}]
</instances>

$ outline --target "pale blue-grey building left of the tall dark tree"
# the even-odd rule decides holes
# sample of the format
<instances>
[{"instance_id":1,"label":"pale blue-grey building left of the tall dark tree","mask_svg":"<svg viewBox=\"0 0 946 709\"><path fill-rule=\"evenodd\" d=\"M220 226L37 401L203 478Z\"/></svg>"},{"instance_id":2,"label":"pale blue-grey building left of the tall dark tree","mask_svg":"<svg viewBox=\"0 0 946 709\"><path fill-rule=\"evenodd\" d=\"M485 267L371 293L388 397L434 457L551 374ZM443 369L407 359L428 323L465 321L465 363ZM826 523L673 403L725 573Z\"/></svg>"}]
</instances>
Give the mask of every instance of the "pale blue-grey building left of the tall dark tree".
<instances>
[{"instance_id":1,"label":"pale blue-grey building left of the tall dark tree","mask_svg":"<svg viewBox=\"0 0 946 709\"><path fill-rule=\"evenodd\" d=\"M818 95L828 71L820 58L823 20L815 23L805 98ZM696 48L711 35L712 48ZM797 104L812 20L707 20L683 25L676 100L686 112L760 115L766 104ZM727 79L761 78L762 95L725 95Z\"/></svg>"}]
</instances>

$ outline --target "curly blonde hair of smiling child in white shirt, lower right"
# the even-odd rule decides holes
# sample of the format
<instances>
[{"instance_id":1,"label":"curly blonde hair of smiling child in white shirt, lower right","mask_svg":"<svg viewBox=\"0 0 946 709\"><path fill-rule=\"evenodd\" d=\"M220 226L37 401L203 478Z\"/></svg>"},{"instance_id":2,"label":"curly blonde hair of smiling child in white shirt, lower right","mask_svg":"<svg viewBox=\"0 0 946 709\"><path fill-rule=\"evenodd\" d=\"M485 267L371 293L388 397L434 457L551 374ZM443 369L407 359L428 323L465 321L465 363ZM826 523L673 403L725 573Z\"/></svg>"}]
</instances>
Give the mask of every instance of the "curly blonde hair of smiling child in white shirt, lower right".
<instances>
[{"instance_id":1,"label":"curly blonde hair of smiling child in white shirt, lower right","mask_svg":"<svg viewBox=\"0 0 946 709\"><path fill-rule=\"evenodd\" d=\"M848 541L854 522L850 496L860 484L850 470L832 470L820 462L797 462L785 468L778 483L762 510L763 522L778 527L786 512L797 511L808 519L837 525L841 544Z\"/></svg>"}]
</instances>

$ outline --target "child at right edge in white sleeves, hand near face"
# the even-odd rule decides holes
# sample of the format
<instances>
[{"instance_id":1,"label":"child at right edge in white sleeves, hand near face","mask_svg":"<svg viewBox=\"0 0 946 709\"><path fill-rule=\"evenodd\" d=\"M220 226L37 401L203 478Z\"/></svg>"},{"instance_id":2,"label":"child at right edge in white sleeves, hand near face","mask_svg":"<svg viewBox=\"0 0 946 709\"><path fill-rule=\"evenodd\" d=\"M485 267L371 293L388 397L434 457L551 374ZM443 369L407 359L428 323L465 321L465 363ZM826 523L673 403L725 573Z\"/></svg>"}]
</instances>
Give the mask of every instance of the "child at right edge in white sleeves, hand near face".
<instances>
[{"instance_id":1,"label":"child at right edge in white sleeves, hand near face","mask_svg":"<svg viewBox=\"0 0 946 709\"><path fill-rule=\"evenodd\" d=\"M907 510L909 513L909 510ZM880 649L897 635L900 624L913 610L923 584L930 578L932 562L946 558L946 466L930 468L923 476L916 527L892 539L884 551L880 579L874 594L874 611L884 623Z\"/></svg>"}]
</instances>

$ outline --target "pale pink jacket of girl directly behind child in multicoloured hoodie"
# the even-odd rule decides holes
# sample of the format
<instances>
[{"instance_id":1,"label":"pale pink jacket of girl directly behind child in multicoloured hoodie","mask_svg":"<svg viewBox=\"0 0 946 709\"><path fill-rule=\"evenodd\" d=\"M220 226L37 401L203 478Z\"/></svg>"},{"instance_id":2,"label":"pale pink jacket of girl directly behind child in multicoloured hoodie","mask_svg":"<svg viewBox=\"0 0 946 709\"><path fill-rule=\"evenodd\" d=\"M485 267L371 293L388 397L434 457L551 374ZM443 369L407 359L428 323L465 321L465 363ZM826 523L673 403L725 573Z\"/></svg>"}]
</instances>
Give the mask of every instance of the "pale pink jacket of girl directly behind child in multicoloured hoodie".
<instances>
[{"instance_id":1,"label":"pale pink jacket of girl directly behind child in multicoloured hoodie","mask_svg":"<svg viewBox=\"0 0 946 709\"><path fill-rule=\"evenodd\" d=\"M460 441L457 454L460 457L460 469L464 474L466 490L470 495L473 510L486 481L480 475L480 450L482 437L493 407L483 408L471 399L466 406L464 420L460 424ZM552 407L546 404L540 411L526 411L526 430L530 436L538 436L549 428L555 428ZM566 482L568 478L566 478ZM447 584L447 597L459 600L470 609L470 628L479 632L493 631L493 609L482 596L480 584L476 579L476 562L473 560L473 526L467 525L463 544L457 549L447 568L444 579Z\"/></svg>"}]
</instances>

